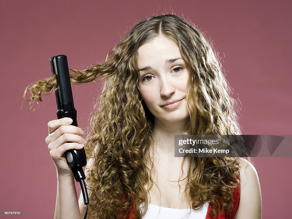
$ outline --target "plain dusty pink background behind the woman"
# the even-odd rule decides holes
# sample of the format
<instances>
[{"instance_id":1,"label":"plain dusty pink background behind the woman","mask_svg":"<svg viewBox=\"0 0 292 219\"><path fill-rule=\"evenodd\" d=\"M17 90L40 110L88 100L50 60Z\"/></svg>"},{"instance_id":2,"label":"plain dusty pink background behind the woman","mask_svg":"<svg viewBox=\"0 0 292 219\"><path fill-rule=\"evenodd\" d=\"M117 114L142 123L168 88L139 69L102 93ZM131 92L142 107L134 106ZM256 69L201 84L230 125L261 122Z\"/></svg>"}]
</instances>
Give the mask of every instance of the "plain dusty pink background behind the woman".
<instances>
[{"instance_id":1,"label":"plain dusty pink background behind the woman","mask_svg":"<svg viewBox=\"0 0 292 219\"><path fill-rule=\"evenodd\" d=\"M0 211L22 211L22 216L0 218L53 218L55 210L56 171L45 143L47 123L56 119L55 96L31 112L22 98L24 88L50 76L51 56L65 54L69 67L77 69L104 60L126 30L153 14L184 15L211 37L233 97L241 101L243 134L291 135L291 6L292 1L276 0L1 0ZM72 89L84 129L100 84ZM253 161L263 218L287 218L292 158Z\"/></svg>"}]
</instances>

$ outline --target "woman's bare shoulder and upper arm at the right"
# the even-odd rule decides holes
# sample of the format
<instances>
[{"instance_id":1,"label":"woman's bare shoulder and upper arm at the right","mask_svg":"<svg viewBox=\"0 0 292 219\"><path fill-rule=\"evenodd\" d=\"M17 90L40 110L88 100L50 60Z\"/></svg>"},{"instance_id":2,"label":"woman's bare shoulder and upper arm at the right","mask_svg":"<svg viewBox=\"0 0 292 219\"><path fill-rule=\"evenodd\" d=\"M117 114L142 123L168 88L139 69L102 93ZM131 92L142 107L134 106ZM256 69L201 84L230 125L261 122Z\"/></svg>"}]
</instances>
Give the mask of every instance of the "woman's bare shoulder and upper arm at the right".
<instances>
[{"instance_id":1,"label":"woman's bare shoulder and upper arm at the right","mask_svg":"<svg viewBox=\"0 0 292 219\"><path fill-rule=\"evenodd\" d=\"M262 218L262 195L256 168L244 158L240 163L240 202L235 219Z\"/></svg>"}]
</instances>

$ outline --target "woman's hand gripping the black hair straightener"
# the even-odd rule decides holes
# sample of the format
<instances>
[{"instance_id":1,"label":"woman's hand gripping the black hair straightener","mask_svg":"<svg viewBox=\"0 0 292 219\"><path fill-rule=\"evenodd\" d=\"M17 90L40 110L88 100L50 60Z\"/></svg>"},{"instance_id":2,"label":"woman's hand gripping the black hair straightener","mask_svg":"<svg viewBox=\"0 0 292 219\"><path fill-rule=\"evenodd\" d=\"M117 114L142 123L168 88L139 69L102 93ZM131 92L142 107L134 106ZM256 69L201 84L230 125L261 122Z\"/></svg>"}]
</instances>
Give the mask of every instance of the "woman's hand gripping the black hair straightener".
<instances>
[{"instance_id":1,"label":"woman's hand gripping the black hair straightener","mask_svg":"<svg viewBox=\"0 0 292 219\"><path fill-rule=\"evenodd\" d=\"M46 137L46 144L58 174L68 176L72 175L72 171L67 164L64 152L69 149L80 150L86 143L86 140L81 137L84 131L79 127L71 126L72 122L72 119L68 117L49 121L49 135Z\"/></svg>"}]
</instances>

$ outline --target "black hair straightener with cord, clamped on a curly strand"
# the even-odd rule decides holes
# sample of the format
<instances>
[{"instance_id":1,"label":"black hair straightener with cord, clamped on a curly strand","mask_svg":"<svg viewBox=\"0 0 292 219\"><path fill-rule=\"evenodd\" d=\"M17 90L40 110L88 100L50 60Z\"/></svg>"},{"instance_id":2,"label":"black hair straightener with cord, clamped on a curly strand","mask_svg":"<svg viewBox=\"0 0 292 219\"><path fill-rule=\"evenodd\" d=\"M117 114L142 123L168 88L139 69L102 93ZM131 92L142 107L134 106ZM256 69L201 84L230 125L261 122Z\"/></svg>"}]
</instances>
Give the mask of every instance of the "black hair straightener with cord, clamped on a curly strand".
<instances>
[{"instance_id":1,"label":"black hair straightener with cord, clamped on a curly strand","mask_svg":"<svg viewBox=\"0 0 292 219\"><path fill-rule=\"evenodd\" d=\"M50 58L52 74L56 75L57 85L55 86L55 94L57 101L57 117L58 119L69 117L73 120L73 126L77 125L77 111L74 108L73 95L69 77L69 68L66 55L58 55ZM65 153L67 164L71 167L75 180L80 183L84 204L87 205L84 219L88 212L88 194L84 183L85 174L82 169L86 166L86 154L84 148L81 150L67 150Z\"/></svg>"}]
</instances>

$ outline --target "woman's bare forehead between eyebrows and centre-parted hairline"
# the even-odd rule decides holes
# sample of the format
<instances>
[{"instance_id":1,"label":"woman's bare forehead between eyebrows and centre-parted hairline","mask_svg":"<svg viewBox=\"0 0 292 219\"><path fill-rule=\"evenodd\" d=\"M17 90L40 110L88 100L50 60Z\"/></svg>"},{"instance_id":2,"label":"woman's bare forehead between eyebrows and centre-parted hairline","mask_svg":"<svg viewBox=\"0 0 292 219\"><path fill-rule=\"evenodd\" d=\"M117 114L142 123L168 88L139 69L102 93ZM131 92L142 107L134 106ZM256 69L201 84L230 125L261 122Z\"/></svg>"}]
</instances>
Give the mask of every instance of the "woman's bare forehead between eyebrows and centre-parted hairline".
<instances>
[{"instance_id":1,"label":"woman's bare forehead between eyebrows and centre-parted hairline","mask_svg":"<svg viewBox=\"0 0 292 219\"><path fill-rule=\"evenodd\" d=\"M178 45L165 36L157 36L138 48L138 67L151 62L165 61L172 58L181 58Z\"/></svg>"}]
</instances>

